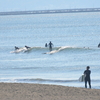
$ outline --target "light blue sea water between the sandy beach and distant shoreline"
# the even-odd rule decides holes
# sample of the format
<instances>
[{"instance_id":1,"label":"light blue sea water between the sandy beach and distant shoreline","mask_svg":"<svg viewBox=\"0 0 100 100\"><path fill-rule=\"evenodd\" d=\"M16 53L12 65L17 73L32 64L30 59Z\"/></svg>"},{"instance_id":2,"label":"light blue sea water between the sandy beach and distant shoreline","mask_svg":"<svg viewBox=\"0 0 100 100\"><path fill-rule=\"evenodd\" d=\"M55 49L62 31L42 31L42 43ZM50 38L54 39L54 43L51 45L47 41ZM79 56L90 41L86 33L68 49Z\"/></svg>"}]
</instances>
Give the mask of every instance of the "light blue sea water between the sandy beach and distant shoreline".
<instances>
[{"instance_id":1,"label":"light blue sea water between the sandy beach and distant shoreline","mask_svg":"<svg viewBox=\"0 0 100 100\"><path fill-rule=\"evenodd\" d=\"M100 89L99 42L100 12L0 16L0 82L84 87L78 80L90 66Z\"/></svg>"}]
</instances>

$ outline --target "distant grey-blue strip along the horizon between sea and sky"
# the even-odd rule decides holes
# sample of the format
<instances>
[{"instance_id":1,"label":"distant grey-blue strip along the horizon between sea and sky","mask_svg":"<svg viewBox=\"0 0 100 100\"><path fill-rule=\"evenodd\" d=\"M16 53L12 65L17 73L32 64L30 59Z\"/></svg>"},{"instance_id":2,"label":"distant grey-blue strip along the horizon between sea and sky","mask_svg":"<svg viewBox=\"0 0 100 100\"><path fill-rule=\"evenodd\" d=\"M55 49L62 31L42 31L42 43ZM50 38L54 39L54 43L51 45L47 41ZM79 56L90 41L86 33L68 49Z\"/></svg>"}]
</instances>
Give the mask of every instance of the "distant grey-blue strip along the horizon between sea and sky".
<instances>
[{"instance_id":1,"label":"distant grey-blue strip along the horizon between sea and sky","mask_svg":"<svg viewBox=\"0 0 100 100\"><path fill-rule=\"evenodd\" d=\"M100 8L9 11L9 12L0 12L0 16L1 15L2 16L3 15L26 15L26 14L79 13L79 12L100 12Z\"/></svg>"}]
</instances>

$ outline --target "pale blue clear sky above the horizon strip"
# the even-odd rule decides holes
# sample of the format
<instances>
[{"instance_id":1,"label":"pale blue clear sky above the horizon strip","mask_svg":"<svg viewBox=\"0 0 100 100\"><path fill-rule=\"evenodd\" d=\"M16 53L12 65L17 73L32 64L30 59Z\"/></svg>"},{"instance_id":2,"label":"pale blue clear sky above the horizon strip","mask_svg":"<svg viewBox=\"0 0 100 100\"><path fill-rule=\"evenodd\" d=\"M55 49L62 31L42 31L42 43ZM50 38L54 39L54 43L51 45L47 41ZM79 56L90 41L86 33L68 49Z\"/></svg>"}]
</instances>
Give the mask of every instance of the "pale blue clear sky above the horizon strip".
<instances>
[{"instance_id":1,"label":"pale blue clear sky above the horizon strip","mask_svg":"<svg viewBox=\"0 0 100 100\"><path fill-rule=\"evenodd\" d=\"M0 12L100 8L100 0L0 0Z\"/></svg>"}]
</instances>

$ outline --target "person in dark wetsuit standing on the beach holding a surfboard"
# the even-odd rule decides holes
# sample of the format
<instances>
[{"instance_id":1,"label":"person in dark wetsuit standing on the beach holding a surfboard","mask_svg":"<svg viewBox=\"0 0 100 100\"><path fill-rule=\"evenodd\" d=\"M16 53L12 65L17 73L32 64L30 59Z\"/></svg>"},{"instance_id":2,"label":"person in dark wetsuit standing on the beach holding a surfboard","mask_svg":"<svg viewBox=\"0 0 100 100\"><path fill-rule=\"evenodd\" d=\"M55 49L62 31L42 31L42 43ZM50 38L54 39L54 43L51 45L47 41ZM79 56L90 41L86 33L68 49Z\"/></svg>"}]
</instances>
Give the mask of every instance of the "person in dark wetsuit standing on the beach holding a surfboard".
<instances>
[{"instance_id":1,"label":"person in dark wetsuit standing on the beach holding a surfboard","mask_svg":"<svg viewBox=\"0 0 100 100\"><path fill-rule=\"evenodd\" d=\"M91 71L89 69L90 69L90 67L87 66L86 70L84 71L84 74L85 74L85 88L87 88L87 82L89 84L89 88L91 88L91 79L90 79Z\"/></svg>"}]
</instances>

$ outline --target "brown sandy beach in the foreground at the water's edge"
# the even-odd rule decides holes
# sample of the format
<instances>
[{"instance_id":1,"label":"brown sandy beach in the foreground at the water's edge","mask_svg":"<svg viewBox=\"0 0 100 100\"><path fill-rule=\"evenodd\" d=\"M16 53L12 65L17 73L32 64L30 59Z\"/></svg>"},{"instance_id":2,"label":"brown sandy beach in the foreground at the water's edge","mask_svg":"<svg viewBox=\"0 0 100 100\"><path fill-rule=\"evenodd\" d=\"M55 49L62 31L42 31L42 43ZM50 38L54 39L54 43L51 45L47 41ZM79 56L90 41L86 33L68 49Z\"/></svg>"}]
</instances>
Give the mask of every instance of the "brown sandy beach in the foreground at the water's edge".
<instances>
[{"instance_id":1,"label":"brown sandy beach in the foreground at the water's edge","mask_svg":"<svg viewBox=\"0 0 100 100\"><path fill-rule=\"evenodd\" d=\"M100 100L100 89L0 83L0 100Z\"/></svg>"}]
</instances>

